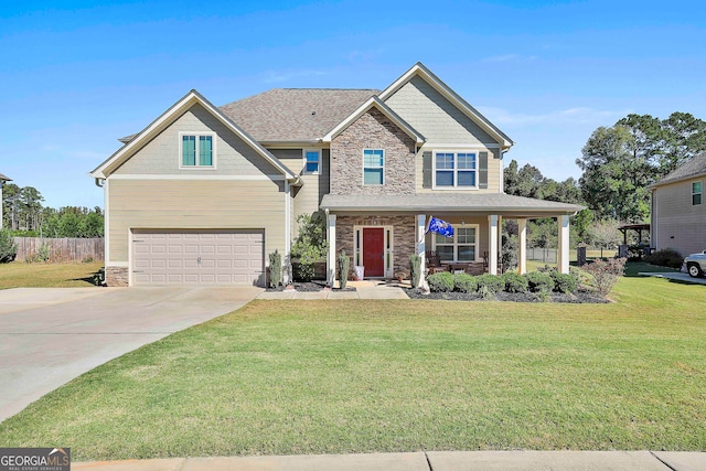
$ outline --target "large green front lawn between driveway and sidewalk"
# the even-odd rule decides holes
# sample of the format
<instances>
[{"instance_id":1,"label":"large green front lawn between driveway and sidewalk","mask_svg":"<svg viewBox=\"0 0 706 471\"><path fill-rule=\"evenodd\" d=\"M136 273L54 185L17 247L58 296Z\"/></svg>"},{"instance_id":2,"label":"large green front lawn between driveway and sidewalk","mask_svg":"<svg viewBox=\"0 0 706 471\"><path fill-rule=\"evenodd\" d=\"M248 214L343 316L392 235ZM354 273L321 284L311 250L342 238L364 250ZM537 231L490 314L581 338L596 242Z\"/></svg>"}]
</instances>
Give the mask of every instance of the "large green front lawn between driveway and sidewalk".
<instances>
[{"instance_id":1,"label":"large green front lawn between driveway and sidewalk","mask_svg":"<svg viewBox=\"0 0 706 471\"><path fill-rule=\"evenodd\" d=\"M706 449L706 291L610 304L255 301L0 424L77 460L478 449Z\"/></svg>"}]
</instances>

